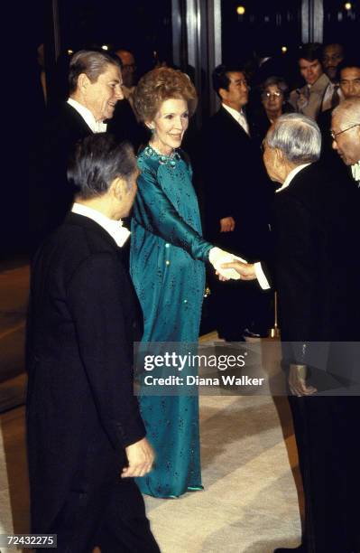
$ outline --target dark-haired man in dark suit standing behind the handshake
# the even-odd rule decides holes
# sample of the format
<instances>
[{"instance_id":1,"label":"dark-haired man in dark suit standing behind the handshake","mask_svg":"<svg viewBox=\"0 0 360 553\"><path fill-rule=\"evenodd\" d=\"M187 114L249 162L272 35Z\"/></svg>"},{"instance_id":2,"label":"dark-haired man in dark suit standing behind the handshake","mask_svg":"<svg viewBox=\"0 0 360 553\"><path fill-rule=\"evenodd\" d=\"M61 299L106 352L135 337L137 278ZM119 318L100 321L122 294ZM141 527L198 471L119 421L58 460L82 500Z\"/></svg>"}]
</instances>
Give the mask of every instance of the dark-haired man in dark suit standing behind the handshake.
<instances>
[{"instance_id":1,"label":"dark-haired man in dark suit standing behind the handshake","mask_svg":"<svg viewBox=\"0 0 360 553\"><path fill-rule=\"evenodd\" d=\"M245 72L220 65L213 72L213 86L222 105L203 129L205 233L217 246L254 260L267 252L272 190L245 116ZM221 338L237 342L245 329L265 333L269 328L269 296L254 283L241 287L214 281L211 289Z\"/></svg>"}]
</instances>

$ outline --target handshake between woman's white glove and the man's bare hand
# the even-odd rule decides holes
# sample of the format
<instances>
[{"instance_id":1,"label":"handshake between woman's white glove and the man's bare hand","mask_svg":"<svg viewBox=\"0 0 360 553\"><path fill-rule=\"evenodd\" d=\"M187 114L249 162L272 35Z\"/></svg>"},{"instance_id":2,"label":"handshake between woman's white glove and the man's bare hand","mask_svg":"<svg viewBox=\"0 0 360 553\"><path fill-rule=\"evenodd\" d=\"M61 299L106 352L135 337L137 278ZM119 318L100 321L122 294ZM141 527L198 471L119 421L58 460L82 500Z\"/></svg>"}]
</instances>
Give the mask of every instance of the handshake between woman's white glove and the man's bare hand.
<instances>
[{"instance_id":1,"label":"handshake between woman's white glove and the man's bare hand","mask_svg":"<svg viewBox=\"0 0 360 553\"><path fill-rule=\"evenodd\" d=\"M255 280L256 273L254 263L248 263L244 258L239 258L221 248L211 248L208 260L215 268L219 280Z\"/></svg>"}]
</instances>

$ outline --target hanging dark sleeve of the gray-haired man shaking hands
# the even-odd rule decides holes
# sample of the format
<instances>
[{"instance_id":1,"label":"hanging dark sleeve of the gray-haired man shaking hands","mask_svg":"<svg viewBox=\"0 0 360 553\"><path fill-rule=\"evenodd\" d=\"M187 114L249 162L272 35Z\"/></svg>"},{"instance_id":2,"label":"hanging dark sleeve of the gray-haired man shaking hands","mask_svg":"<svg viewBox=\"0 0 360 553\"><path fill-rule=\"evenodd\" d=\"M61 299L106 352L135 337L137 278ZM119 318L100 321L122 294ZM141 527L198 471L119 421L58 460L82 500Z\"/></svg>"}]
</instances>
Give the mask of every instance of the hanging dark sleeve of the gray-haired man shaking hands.
<instances>
[{"instance_id":1,"label":"hanging dark sleeve of the gray-haired man shaking hands","mask_svg":"<svg viewBox=\"0 0 360 553\"><path fill-rule=\"evenodd\" d=\"M297 199L282 202L277 218L276 284L280 291L284 340L311 338L311 310L316 290L316 232L309 210Z\"/></svg>"}]
</instances>

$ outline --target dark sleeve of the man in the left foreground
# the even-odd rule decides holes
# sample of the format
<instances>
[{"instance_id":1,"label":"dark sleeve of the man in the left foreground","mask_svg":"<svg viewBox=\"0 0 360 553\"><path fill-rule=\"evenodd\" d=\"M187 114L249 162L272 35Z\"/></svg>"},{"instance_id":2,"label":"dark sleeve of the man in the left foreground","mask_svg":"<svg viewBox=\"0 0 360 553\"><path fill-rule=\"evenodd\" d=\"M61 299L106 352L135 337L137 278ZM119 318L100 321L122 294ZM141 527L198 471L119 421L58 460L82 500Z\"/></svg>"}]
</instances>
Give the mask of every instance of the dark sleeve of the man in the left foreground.
<instances>
[{"instance_id":1,"label":"dark sleeve of the man in the left foreground","mask_svg":"<svg viewBox=\"0 0 360 553\"><path fill-rule=\"evenodd\" d=\"M116 449L145 436L134 397L133 344L126 337L123 268L110 254L88 258L68 287L78 348L101 422ZM78 398L81 401L81 398Z\"/></svg>"}]
</instances>

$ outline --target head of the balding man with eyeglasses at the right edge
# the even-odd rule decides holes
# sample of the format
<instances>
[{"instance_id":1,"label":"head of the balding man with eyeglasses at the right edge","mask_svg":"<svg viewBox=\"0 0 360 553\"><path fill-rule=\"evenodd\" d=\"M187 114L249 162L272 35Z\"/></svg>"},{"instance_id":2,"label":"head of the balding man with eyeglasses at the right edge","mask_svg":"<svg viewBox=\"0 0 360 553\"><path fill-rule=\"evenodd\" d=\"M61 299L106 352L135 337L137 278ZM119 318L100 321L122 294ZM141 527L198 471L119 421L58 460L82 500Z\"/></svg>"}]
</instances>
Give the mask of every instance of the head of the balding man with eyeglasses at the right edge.
<instances>
[{"instance_id":1,"label":"head of the balding man with eyeglasses at the right edge","mask_svg":"<svg viewBox=\"0 0 360 553\"><path fill-rule=\"evenodd\" d=\"M360 98L349 98L333 111L332 147L360 186Z\"/></svg>"}]
</instances>

